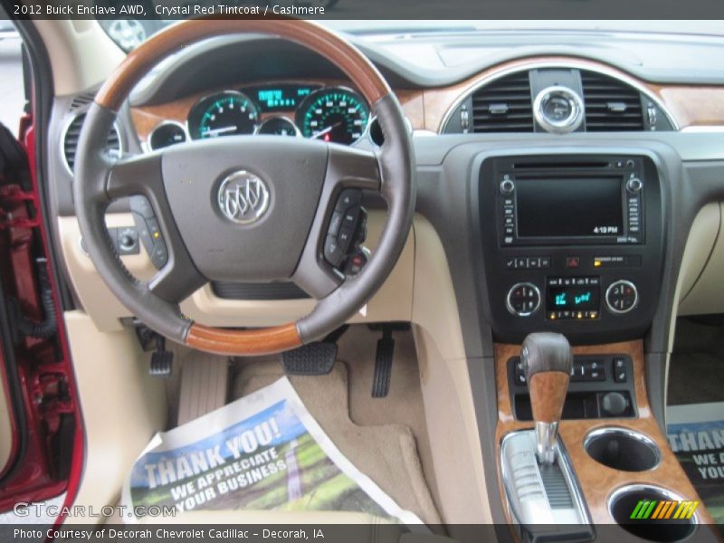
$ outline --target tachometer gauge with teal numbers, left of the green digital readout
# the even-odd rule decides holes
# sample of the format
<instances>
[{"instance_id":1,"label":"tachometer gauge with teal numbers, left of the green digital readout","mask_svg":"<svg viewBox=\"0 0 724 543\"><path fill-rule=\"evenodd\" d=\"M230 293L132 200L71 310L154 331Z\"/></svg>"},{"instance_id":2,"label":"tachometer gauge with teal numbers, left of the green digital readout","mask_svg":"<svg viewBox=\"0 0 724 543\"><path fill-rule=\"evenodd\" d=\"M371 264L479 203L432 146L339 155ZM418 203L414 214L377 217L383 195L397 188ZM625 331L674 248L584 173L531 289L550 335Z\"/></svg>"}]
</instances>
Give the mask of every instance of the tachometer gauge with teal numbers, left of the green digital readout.
<instances>
[{"instance_id":1,"label":"tachometer gauge with teal numbers, left of the green digital readout","mask_svg":"<svg viewBox=\"0 0 724 543\"><path fill-rule=\"evenodd\" d=\"M252 100L229 90L196 103L188 114L188 132L194 139L253 134L258 120L259 111Z\"/></svg>"}]
</instances>

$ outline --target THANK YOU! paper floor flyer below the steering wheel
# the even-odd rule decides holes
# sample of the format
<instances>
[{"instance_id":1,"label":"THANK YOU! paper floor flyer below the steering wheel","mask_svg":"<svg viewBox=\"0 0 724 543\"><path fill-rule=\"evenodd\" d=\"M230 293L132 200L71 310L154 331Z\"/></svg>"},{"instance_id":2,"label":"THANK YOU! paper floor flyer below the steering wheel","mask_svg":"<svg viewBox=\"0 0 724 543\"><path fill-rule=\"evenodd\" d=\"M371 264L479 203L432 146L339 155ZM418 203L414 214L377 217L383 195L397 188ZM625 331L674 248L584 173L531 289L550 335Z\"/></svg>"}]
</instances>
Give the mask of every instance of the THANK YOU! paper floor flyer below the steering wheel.
<instances>
[{"instance_id":1,"label":"THANK YOU! paper floor flyer below the steering wheel","mask_svg":"<svg viewBox=\"0 0 724 543\"><path fill-rule=\"evenodd\" d=\"M122 502L179 512L354 511L422 524L339 452L287 377L157 433L134 463Z\"/></svg>"}]
</instances>

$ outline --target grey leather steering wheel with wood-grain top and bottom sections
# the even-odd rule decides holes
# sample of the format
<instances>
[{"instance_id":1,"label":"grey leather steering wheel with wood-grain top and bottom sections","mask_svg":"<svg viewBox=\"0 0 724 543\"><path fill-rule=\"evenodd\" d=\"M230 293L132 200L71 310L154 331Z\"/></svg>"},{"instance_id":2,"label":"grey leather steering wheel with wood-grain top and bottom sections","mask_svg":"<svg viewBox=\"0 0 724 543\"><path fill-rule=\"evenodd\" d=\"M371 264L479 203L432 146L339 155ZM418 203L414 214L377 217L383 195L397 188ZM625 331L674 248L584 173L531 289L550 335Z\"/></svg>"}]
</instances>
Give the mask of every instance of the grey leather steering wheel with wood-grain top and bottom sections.
<instances>
[{"instance_id":1,"label":"grey leather steering wheel with wood-grain top and bottom sections","mask_svg":"<svg viewBox=\"0 0 724 543\"><path fill-rule=\"evenodd\" d=\"M190 43L240 32L280 36L335 64L371 105L384 144L371 152L319 140L238 136L116 162L106 156L106 135L120 106L150 68ZM168 27L131 52L100 88L78 148L76 214L103 280L148 327L207 352L271 354L324 337L386 280L412 223L414 150L395 95L357 48L309 21L190 20ZM367 265L346 277L325 260L324 245L340 195L358 197L361 189L386 200L386 224ZM110 203L130 195L148 198L167 246L167 262L150 281L126 270L105 226ZM181 314L180 301L221 280L291 280L318 302L296 322L263 329L210 328Z\"/></svg>"}]
</instances>

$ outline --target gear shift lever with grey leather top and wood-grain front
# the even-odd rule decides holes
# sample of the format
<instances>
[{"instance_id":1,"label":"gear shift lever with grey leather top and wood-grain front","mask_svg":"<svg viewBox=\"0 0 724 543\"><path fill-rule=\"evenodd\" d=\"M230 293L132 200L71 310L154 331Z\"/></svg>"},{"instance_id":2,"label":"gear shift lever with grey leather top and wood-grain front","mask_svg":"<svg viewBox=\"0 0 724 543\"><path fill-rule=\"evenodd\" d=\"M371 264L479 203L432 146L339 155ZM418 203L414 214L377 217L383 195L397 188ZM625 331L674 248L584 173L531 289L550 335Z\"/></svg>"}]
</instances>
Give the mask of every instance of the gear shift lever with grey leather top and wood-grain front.
<instances>
[{"instance_id":1,"label":"gear shift lever with grey leather top and wood-grain front","mask_svg":"<svg viewBox=\"0 0 724 543\"><path fill-rule=\"evenodd\" d=\"M556 457L558 422L566 400L573 367L573 353L561 334L529 334L520 352L526 372L533 419L536 421L538 462L551 464Z\"/></svg>"}]
</instances>

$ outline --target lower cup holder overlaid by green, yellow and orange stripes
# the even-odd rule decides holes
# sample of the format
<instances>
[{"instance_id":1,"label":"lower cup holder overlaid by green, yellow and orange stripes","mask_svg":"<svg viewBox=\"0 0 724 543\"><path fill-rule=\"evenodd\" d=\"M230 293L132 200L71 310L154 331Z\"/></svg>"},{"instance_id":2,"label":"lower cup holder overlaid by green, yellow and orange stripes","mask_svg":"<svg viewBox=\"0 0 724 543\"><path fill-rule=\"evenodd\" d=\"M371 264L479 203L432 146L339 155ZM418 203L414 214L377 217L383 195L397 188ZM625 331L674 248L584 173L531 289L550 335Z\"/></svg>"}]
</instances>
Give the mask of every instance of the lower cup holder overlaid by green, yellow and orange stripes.
<instances>
[{"instance_id":1,"label":"lower cup holder overlaid by green, yellow and orange stripes","mask_svg":"<svg viewBox=\"0 0 724 543\"><path fill-rule=\"evenodd\" d=\"M653 520L632 519L633 511L639 501L681 501L681 496L665 489L651 485L630 485L615 491L608 500L608 510L614 520L638 538L649 541L681 541L688 538L696 529L696 515L691 519ZM654 504L654 510L658 507Z\"/></svg>"}]
</instances>

